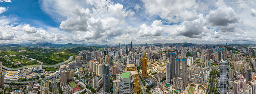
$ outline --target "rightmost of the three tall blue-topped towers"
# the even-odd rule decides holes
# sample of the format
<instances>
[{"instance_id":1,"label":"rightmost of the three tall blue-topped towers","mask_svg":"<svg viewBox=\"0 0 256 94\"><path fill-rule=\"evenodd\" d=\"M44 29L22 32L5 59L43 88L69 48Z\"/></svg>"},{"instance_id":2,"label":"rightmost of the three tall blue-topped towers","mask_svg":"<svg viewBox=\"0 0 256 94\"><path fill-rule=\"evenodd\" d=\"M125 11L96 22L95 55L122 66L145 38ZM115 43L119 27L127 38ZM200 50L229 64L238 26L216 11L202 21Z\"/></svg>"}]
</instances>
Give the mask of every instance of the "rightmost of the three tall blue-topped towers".
<instances>
[{"instance_id":1,"label":"rightmost of the three tall blue-topped towers","mask_svg":"<svg viewBox=\"0 0 256 94\"><path fill-rule=\"evenodd\" d=\"M182 72L182 82L183 82L183 85L184 86L186 86L187 85L187 58L183 58L182 60L181 60L181 63L182 63L182 70L181 70L181 72Z\"/></svg>"}]
</instances>

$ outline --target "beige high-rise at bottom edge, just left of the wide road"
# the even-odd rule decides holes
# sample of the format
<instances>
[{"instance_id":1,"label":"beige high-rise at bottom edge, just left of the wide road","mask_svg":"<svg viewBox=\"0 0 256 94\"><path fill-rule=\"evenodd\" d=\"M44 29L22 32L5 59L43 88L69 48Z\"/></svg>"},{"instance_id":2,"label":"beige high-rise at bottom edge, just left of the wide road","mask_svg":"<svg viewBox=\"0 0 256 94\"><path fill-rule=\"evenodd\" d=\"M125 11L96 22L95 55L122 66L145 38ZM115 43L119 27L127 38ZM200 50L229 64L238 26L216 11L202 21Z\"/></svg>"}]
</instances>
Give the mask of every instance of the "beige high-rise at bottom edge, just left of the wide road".
<instances>
[{"instance_id":1,"label":"beige high-rise at bottom edge, just left of the wide road","mask_svg":"<svg viewBox=\"0 0 256 94\"><path fill-rule=\"evenodd\" d=\"M50 94L49 80L41 81L40 94Z\"/></svg>"}]
</instances>

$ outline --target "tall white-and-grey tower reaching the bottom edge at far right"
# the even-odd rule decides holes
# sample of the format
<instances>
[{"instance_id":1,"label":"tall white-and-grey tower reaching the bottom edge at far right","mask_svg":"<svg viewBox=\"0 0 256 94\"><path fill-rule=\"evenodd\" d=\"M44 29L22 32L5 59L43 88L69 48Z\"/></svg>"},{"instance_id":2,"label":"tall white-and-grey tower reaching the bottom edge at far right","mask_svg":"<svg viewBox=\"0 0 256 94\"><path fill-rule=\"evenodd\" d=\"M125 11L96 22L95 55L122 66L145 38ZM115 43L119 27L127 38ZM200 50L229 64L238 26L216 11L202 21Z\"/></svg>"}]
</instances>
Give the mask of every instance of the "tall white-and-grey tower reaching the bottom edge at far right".
<instances>
[{"instance_id":1,"label":"tall white-and-grey tower reaching the bottom edge at far right","mask_svg":"<svg viewBox=\"0 0 256 94\"><path fill-rule=\"evenodd\" d=\"M230 60L221 60L221 66L220 66L220 91L221 94L227 94L230 89Z\"/></svg>"}]
</instances>

